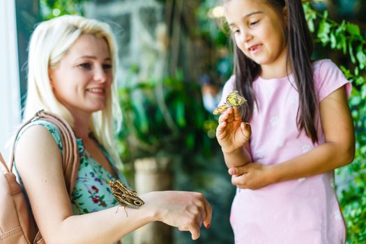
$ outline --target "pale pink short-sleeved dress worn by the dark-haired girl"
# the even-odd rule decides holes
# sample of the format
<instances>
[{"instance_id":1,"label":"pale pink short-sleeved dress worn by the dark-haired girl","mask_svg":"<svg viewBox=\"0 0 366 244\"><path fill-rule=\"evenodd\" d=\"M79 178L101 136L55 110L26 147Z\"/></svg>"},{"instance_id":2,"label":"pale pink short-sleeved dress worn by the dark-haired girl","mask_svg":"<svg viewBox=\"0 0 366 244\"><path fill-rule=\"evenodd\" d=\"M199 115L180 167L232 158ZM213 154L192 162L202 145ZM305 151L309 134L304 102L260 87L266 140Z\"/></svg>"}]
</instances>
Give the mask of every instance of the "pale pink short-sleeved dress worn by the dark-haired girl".
<instances>
[{"instance_id":1,"label":"pale pink short-sleeved dress worn by the dark-haired girl","mask_svg":"<svg viewBox=\"0 0 366 244\"><path fill-rule=\"evenodd\" d=\"M351 83L332 61L314 62L313 71L319 102L341 86L346 87L349 97ZM257 105L249 121L252 162L277 164L324 143L319 115L316 118L318 144L313 144L304 131L298 131L298 92L292 75L280 79L257 77L253 89ZM224 85L220 104L234 90L234 77L231 77ZM345 243L334 171L275 183L259 190L238 189L230 221L235 243Z\"/></svg>"}]
</instances>

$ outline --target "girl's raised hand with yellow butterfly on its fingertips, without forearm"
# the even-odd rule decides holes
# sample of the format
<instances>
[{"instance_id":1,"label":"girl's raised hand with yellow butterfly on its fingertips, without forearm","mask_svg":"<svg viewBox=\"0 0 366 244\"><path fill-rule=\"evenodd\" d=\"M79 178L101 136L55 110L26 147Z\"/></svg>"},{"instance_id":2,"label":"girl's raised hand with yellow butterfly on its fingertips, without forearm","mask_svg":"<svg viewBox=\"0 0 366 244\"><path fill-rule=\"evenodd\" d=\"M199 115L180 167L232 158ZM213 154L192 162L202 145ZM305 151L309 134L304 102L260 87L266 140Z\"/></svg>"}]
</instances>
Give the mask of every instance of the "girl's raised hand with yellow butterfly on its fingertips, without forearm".
<instances>
[{"instance_id":1,"label":"girl's raised hand with yellow butterfly on its fingertips, without forearm","mask_svg":"<svg viewBox=\"0 0 366 244\"><path fill-rule=\"evenodd\" d=\"M219 118L216 137L224 153L231 153L249 141L252 130L244 123L238 107L229 107Z\"/></svg>"}]
</instances>

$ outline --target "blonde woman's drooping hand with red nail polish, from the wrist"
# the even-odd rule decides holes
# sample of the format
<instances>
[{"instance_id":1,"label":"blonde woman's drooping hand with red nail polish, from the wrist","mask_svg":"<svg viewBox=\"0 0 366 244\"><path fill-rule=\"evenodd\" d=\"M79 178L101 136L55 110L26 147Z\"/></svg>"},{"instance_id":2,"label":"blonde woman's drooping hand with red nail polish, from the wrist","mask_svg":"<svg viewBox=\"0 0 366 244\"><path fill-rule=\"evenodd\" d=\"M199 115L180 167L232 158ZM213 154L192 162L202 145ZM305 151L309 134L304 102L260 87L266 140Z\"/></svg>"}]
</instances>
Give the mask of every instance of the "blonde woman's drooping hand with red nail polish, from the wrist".
<instances>
[{"instance_id":1,"label":"blonde woman's drooping hand with red nail polish, from the wrist","mask_svg":"<svg viewBox=\"0 0 366 244\"><path fill-rule=\"evenodd\" d=\"M202 223L206 229L210 227L212 208L199 192L149 192L142 199L144 206L153 208L158 221L178 227L180 231L190 231L192 240L199 238Z\"/></svg>"}]
</instances>

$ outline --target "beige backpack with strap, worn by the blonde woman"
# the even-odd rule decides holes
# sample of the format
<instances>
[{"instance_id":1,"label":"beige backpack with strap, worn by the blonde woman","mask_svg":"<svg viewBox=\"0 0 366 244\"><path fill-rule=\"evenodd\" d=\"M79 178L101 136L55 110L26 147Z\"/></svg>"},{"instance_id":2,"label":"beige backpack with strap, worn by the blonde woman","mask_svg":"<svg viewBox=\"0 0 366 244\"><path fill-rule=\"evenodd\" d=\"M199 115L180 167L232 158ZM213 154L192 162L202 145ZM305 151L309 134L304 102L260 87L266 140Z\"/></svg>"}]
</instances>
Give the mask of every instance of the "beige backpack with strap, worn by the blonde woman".
<instances>
[{"instance_id":1,"label":"beige backpack with strap, worn by the blonde woman","mask_svg":"<svg viewBox=\"0 0 366 244\"><path fill-rule=\"evenodd\" d=\"M63 176L65 176L68 193L71 196L79 169L79 152L75 134L70 125L61 116L41 110L32 119L20 126L15 134L15 138L17 138L18 133L25 125L38 119L54 123L61 132ZM0 165L2 166L0 166L2 168L2 174L0 175L0 243L45 243L36 227L32 213L29 212L22 188L17 183L12 172L14 147L15 140L12 146L9 166L6 165L0 153ZM31 162L29 162L29 165L31 165Z\"/></svg>"}]
</instances>

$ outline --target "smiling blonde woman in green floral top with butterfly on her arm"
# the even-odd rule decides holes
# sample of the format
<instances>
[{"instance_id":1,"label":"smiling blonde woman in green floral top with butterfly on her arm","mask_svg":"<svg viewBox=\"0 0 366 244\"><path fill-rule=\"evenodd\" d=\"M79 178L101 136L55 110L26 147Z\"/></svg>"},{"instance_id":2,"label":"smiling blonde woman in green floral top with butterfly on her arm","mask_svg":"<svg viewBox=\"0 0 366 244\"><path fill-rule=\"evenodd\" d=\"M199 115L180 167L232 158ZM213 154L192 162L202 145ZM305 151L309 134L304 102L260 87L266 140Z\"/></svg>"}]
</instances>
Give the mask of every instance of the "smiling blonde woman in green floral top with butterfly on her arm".
<instances>
[{"instance_id":1,"label":"smiling blonde woman in green floral top with butterfly on her arm","mask_svg":"<svg viewBox=\"0 0 366 244\"><path fill-rule=\"evenodd\" d=\"M197 239L201 224L211 221L211 206L198 192L149 192L140 196L145 204L139 209L118 211L108 184L123 181L115 167L114 121L121 121L116 54L109 26L84 17L57 17L32 34L24 119L38 109L63 116L73 126L80 155L69 199L58 128L38 120L17 137L15 166L40 234L45 243L114 243L161 221Z\"/></svg>"}]
</instances>

